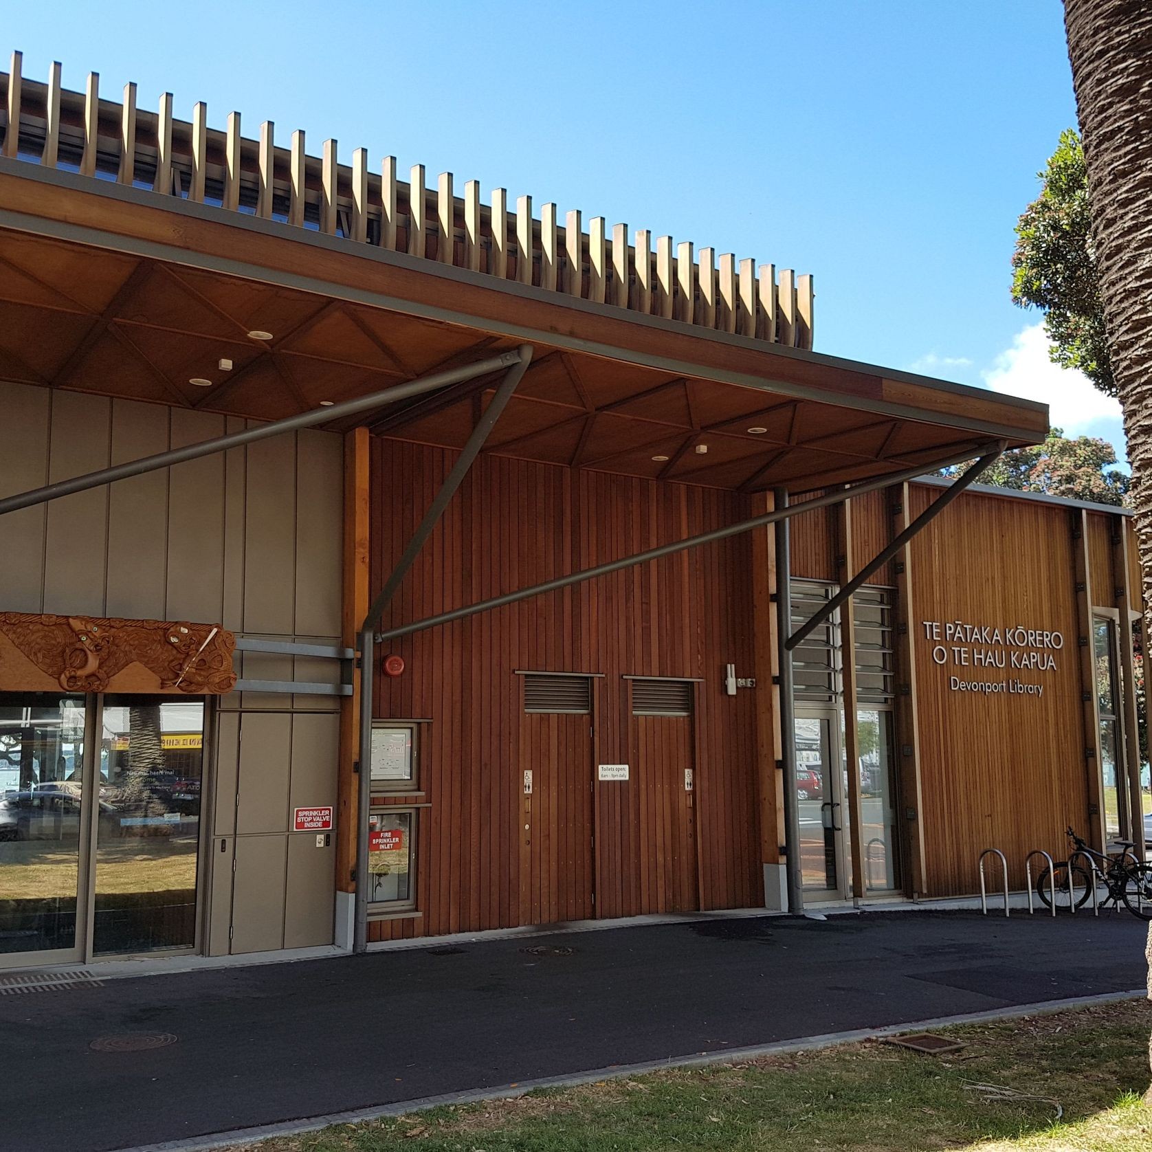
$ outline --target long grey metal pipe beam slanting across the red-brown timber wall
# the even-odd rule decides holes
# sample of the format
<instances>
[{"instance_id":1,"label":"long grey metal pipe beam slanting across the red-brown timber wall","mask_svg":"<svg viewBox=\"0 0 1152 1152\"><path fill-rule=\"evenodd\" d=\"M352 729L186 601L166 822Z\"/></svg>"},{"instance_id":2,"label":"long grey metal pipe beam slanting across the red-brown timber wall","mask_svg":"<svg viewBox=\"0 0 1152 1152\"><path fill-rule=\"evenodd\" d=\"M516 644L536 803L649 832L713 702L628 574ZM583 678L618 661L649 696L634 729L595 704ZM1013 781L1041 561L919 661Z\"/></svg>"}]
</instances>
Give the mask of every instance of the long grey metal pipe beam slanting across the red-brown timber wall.
<instances>
[{"instance_id":1,"label":"long grey metal pipe beam slanting across the red-brown timber wall","mask_svg":"<svg viewBox=\"0 0 1152 1152\"><path fill-rule=\"evenodd\" d=\"M999 444L995 444L984 445L976 450L987 453L988 450L999 452L1000 449ZM389 628L387 631L379 632L376 639L379 643L382 641L395 639L397 636L408 636L411 632L419 632L426 628L435 628L438 624L447 624L454 620L463 620L465 616L475 616L478 612L488 612L492 608L503 607L506 604L516 604L520 600L528 600L531 597L540 596L544 592L554 592L561 588L568 588L570 584L579 584L583 581L592 579L597 576L606 576L609 573L619 571L621 568L630 568L634 564L643 564L649 560L659 560L661 556L672 555L675 552L683 552L685 548L699 547L702 544L711 544L714 540L726 540L730 536L740 536L742 532L750 532L753 528L760 528L765 524L775 524L778 521L787 520L790 516L795 516L797 513L812 511L817 508L827 508L831 505L841 503L850 497L863 494L865 492L874 492L878 488L886 488L892 484L900 484L903 480L914 480L917 476L922 476L924 472L930 472L933 469L939 468L949 468L953 464L961 464L971 458L972 449L969 448L968 452L963 454L957 453L942 460L927 461L923 464L917 464L915 468L907 468L903 471L893 472L878 479L866 480L865 483L854 485L850 488L841 488L836 492L828 493L827 495L817 497L813 500L805 500L803 505L776 509L760 516L753 516L751 520L743 520L736 524L728 524L725 528L713 529L711 532L702 532L699 536L689 536L683 540L674 540L672 544L662 544L657 548L649 548L646 552L637 552L634 555L624 556L621 560L613 560L606 564L597 564L594 568L584 568L581 571L571 573L568 576L558 576L555 579L545 581L543 584L533 584L530 588L522 588L515 592L506 592L503 596L493 597L491 600L480 600L477 604L469 604L462 608L454 608L452 612L441 612L437 616L417 620L411 624L402 624L396 628Z\"/></svg>"}]
</instances>

